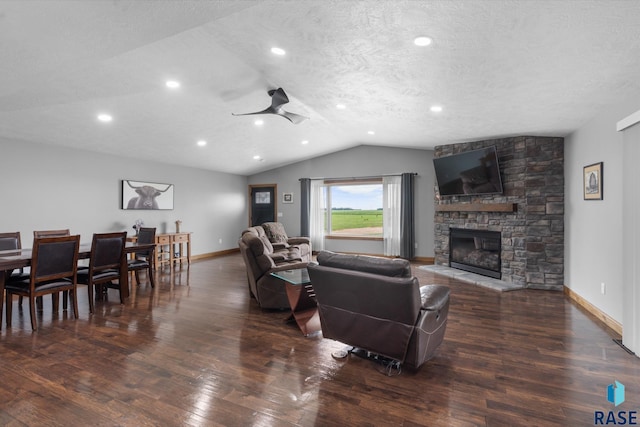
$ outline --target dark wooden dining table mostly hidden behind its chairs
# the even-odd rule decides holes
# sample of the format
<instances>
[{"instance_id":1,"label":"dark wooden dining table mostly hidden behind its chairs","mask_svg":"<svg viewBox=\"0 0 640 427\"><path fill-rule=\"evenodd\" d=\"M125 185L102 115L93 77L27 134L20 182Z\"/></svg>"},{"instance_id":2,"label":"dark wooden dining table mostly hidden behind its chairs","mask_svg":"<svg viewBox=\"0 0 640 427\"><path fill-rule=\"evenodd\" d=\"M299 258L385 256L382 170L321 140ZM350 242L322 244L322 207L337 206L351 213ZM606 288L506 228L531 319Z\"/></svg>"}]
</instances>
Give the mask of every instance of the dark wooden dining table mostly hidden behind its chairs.
<instances>
[{"instance_id":1,"label":"dark wooden dining table mostly hidden behind its chairs","mask_svg":"<svg viewBox=\"0 0 640 427\"><path fill-rule=\"evenodd\" d=\"M135 252L151 251L150 259L154 259L154 251L156 249L155 243L138 243L138 242L126 242L125 244L125 256L122 259L120 266L120 278L118 280L120 284L120 292L122 298L129 297L129 277L127 269L127 255ZM8 249L0 251L0 329L2 329L2 314L3 314L3 301L4 301L4 285L8 275L15 269L29 267L31 265L31 248L23 249ZM88 259L91 257L91 243L80 243L78 248L78 259Z\"/></svg>"}]
</instances>

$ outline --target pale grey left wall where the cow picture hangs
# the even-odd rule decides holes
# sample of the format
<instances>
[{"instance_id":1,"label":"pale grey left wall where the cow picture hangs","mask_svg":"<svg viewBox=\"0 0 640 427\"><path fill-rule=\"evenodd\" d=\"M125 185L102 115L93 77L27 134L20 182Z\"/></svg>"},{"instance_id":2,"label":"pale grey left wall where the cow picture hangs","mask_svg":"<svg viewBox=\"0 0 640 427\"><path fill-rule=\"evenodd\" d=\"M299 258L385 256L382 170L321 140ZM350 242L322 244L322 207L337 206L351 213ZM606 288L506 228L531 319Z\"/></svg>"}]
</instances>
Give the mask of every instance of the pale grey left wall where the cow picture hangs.
<instances>
[{"instance_id":1,"label":"pale grey left wall where the cow picture hangs","mask_svg":"<svg viewBox=\"0 0 640 427\"><path fill-rule=\"evenodd\" d=\"M69 228L90 242L94 232L133 234L138 218L158 232L180 219L199 255L237 248L246 227L243 176L24 142L0 141L0 159L2 230L20 231L24 247L35 229ZM174 184L174 209L120 209L122 179Z\"/></svg>"}]
</instances>

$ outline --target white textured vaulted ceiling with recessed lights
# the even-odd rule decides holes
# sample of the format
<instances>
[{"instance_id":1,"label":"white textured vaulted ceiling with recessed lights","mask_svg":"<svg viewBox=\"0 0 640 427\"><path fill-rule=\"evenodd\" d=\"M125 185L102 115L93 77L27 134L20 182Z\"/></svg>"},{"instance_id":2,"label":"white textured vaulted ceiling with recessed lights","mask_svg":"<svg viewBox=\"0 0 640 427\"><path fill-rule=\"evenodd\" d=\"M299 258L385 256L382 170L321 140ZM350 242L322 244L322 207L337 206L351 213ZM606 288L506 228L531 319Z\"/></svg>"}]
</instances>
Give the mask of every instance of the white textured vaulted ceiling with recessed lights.
<instances>
[{"instance_id":1,"label":"white textured vaulted ceiling with recessed lights","mask_svg":"<svg viewBox=\"0 0 640 427\"><path fill-rule=\"evenodd\" d=\"M250 175L361 144L567 135L640 95L640 2L4 0L0 58L0 141ZM277 87L310 120L232 116Z\"/></svg>"}]
</instances>

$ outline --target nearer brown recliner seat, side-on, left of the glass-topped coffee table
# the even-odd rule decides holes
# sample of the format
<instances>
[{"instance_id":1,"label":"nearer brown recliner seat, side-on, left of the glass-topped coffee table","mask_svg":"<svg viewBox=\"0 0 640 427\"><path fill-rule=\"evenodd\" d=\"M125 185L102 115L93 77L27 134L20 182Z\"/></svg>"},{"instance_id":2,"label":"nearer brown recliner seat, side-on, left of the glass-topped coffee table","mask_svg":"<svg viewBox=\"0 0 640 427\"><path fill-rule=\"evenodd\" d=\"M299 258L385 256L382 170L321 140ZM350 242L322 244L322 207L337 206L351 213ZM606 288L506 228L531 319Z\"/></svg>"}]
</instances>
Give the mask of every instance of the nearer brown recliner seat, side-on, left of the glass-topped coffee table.
<instances>
[{"instance_id":1,"label":"nearer brown recliner seat, side-on, left of the glass-topped coffee table","mask_svg":"<svg viewBox=\"0 0 640 427\"><path fill-rule=\"evenodd\" d=\"M258 227L255 227L258 228ZM272 272L304 268L307 262L299 257L279 259L276 264L269 241L258 237L255 233L245 232L238 242L240 253L247 268L249 291L262 308L290 308L285 284L282 280L271 276Z\"/></svg>"}]
</instances>

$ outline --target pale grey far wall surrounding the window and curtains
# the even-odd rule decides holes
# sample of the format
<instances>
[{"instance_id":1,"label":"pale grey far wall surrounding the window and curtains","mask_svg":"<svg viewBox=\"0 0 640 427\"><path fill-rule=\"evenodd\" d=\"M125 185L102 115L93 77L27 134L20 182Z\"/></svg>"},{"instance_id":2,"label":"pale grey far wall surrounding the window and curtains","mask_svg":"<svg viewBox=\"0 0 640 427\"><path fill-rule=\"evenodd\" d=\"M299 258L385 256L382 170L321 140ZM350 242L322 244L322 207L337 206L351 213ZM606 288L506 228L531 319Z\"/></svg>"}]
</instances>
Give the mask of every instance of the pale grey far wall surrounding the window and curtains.
<instances>
[{"instance_id":1,"label":"pale grey far wall surrounding the window and curtains","mask_svg":"<svg viewBox=\"0 0 640 427\"><path fill-rule=\"evenodd\" d=\"M417 257L434 256L433 151L406 148L359 146L326 156L294 163L249 177L249 184L278 185L278 218L290 236L300 233L300 178L362 177L416 172L415 225ZM293 193L293 204L282 204L282 193ZM382 242L327 240L325 249L382 254Z\"/></svg>"}]
</instances>

